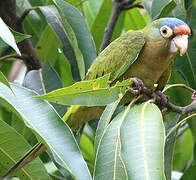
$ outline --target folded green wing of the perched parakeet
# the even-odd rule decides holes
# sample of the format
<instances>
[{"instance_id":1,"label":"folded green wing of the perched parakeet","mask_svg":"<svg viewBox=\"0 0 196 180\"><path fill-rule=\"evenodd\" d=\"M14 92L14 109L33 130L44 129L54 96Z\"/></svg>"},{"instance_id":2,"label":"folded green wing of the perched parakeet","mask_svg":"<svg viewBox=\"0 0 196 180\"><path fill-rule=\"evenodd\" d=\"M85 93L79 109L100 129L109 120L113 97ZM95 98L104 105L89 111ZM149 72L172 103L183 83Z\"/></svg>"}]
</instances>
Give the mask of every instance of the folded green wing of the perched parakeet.
<instances>
[{"instance_id":1,"label":"folded green wing of the perched parakeet","mask_svg":"<svg viewBox=\"0 0 196 180\"><path fill-rule=\"evenodd\" d=\"M96 79L111 73L110 80L115 80L137 59L144 44L142 31L125 33L107 46L93 61L86 79Z\"/></svg>"}]
</instances>

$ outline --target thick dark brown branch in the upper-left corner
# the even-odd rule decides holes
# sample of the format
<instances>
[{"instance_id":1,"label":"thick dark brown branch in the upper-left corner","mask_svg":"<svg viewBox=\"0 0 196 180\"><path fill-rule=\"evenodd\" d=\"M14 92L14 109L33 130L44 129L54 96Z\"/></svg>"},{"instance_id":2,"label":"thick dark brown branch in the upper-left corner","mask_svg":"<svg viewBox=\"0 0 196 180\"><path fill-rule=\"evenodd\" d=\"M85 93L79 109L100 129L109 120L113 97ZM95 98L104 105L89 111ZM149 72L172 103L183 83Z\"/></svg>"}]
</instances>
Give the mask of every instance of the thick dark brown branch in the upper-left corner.
<instances>
[{"instance_id":1,"label":"thick dark brown branch in the upper-left corner","mask_svg":"<svg viewBox=\"0 0 196 180\"><path fill-rule=\"evenodd\" d=\"M23 24L21 23L20 16L16 10L15 0L0 1L0 16L9 27L17 32L25 34ZM25 39L18 43L18 48L20 49L20 52L27 57L24 58L23 61L28 70L41 68L41 61L37 57L29 39Z\"/></svg>"}]
</instances>

